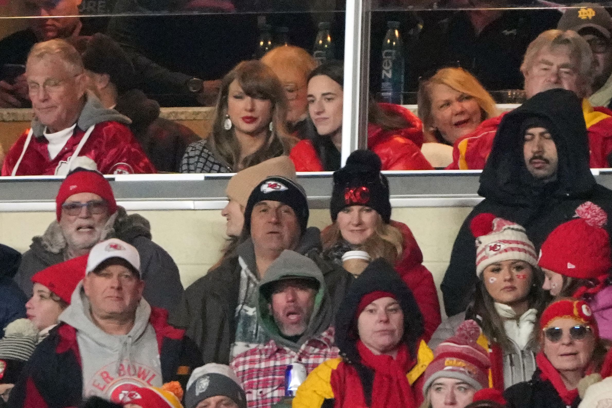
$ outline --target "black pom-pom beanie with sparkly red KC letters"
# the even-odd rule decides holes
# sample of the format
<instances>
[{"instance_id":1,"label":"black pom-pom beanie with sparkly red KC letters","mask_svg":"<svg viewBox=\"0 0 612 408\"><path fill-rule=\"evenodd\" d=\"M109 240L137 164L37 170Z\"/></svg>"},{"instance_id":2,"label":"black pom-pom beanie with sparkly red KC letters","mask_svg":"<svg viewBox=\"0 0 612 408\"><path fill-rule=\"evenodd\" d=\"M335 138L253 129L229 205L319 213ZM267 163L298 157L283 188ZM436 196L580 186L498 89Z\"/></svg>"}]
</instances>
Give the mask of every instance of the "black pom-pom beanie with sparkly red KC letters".
<instances>
[{"instance_id":1,"label":"black pom-pom beanie with sparkly red KC letters","mask_svg":"<svg viewBox=\"0 0 612 408\"><path fill-rule=\"evenodd\" d=\"M370 150L355 150L346 165L334 172L334 190L329 203L332 221L338 212L349 206L368 206L378 212L383 221L391 220L389 182L381 173L383 163Z\"/></svg>"}]
</instances>

